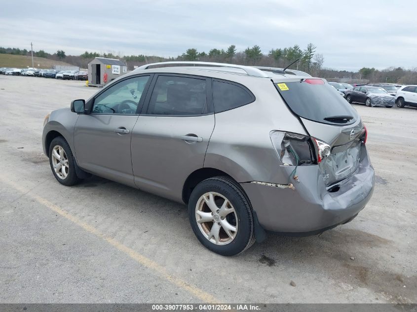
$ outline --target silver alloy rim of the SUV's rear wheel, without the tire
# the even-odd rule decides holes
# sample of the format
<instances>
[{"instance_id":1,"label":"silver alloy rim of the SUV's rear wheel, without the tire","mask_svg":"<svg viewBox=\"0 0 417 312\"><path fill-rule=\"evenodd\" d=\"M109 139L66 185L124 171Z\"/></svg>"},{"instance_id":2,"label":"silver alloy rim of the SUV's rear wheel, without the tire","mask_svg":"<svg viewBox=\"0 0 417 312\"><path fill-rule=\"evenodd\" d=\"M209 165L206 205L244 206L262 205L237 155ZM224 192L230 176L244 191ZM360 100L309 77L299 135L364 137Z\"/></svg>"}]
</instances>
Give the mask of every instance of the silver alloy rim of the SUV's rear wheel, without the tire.
<instances>
[{"instance_id":1,"label":"silver alloy rim of the SUV's rear wheel, without the tire","mask_svg":"<svg viewBox=\"0 0 417 312\"><path fill-rule=\"evenodd\" d=\"M236 211L219 193L208 192L200 196L195 205L195 220L207 240L216 245L231 243L237 234Z\"/></svg>"}]
</instances>

